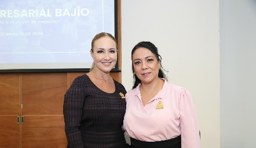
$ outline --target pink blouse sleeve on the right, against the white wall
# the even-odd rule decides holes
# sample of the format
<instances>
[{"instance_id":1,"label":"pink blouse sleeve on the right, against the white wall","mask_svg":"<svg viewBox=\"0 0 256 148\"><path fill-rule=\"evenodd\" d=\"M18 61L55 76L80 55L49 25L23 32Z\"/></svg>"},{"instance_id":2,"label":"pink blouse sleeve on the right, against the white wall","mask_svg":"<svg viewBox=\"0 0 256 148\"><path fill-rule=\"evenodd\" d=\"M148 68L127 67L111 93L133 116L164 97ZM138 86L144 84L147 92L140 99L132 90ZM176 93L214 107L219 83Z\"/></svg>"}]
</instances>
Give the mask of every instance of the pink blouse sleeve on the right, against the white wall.
<instances>
[{"instance_id":1,"label":"pink blouse sleeve on the right, against the white wall","mask_svg":"<svg viewBox=\"0 0 256 148\"><path fill-rule=\"evenodd\" d=\"M189 91L181 90L180 98L181 147L200 148L198 117Z\"/></svg>"}]
</instances>

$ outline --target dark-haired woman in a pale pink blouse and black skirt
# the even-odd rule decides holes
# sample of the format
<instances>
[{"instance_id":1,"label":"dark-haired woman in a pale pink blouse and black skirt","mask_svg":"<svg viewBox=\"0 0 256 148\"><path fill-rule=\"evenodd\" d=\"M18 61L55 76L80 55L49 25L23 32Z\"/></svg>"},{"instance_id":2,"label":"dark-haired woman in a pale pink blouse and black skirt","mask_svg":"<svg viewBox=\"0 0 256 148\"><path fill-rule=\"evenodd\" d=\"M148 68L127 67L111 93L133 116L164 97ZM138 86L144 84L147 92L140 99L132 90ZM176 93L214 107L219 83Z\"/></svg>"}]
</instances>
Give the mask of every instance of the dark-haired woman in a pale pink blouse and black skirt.
<instances>
[{"instance_id":1,"label":"dark-haired woman in a pale pink blouse and black skirt","mask_svg":"<svg viewBox=\"0 0 256 148\"><path fill-rule=\"evenodd\" d=\"M191 95L186 88L167 82L157 47L140 42L131 59L134 86L126 94L123 124L131 147L200 148Z\"/></svg>"}]
</instances>

